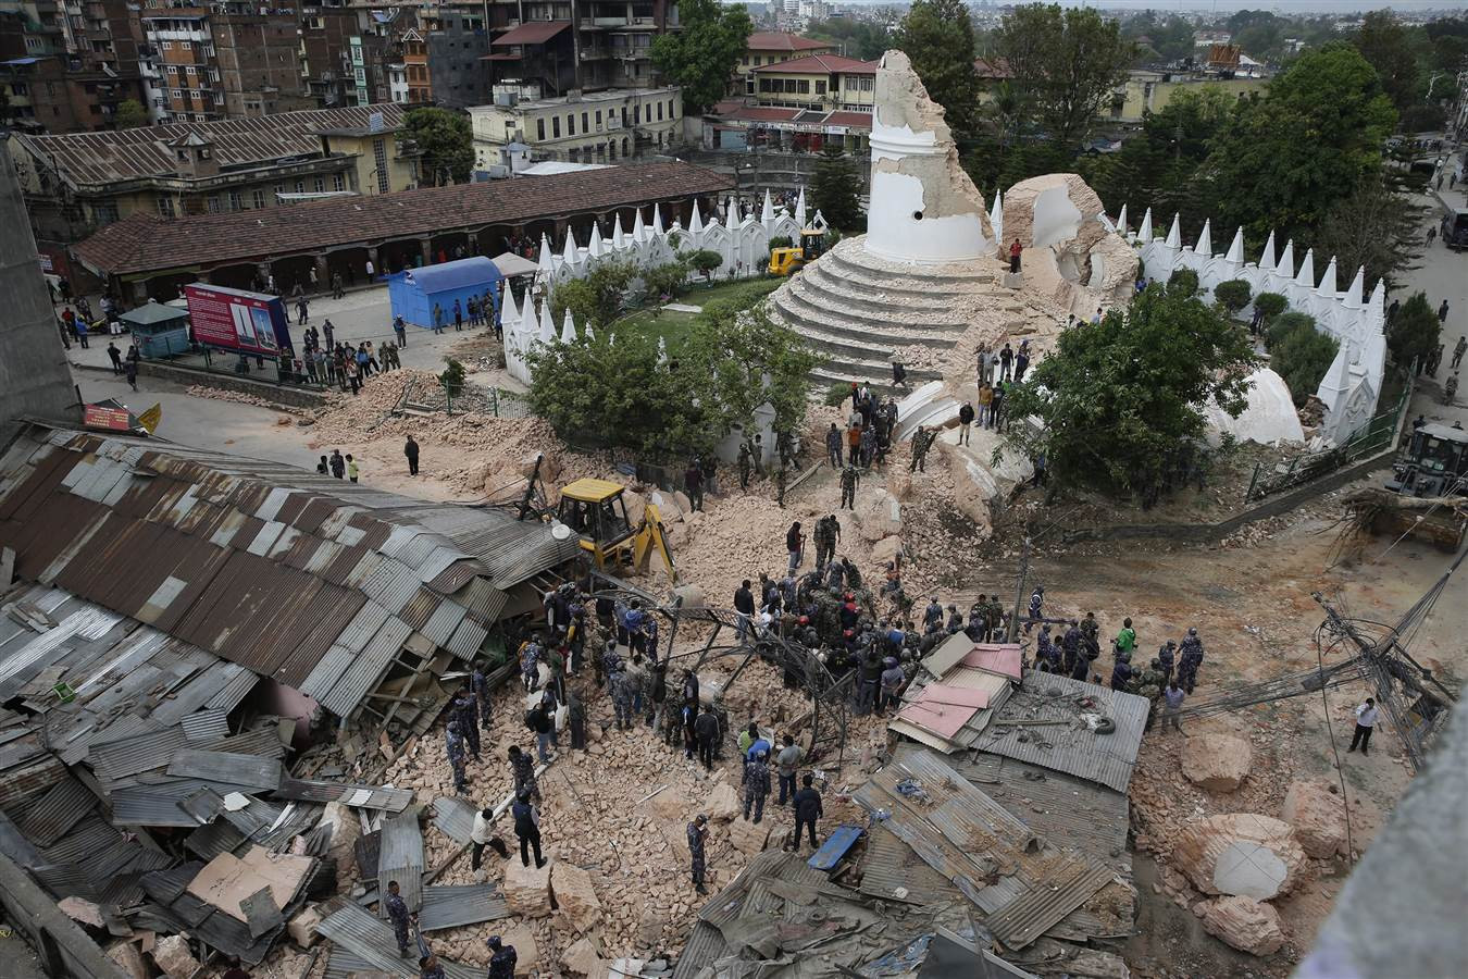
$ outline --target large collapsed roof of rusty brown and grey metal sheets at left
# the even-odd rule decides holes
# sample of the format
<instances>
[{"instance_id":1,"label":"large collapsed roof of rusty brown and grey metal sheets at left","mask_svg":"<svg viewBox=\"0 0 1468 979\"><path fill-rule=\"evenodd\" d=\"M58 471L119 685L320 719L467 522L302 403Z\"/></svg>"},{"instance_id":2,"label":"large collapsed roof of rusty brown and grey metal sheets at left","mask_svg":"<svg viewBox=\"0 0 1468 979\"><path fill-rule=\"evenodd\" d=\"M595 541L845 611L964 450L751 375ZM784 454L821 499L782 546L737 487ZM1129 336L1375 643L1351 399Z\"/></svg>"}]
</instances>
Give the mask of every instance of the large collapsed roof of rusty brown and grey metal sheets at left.
<instances>
[{"instance_id":1,"label":"large collapsed roof of rusty brown and grey metal sheets at left","mask_svg":"<svg viewBox=\"0 0 1468 979\"><path fill-rule=\"evenodd\" d=\"M474 658L502 615L534 605L531 578L580 553L502 511L40 424L0 458L0 545L19 578L150 625L148 641L211 653L341 718L414 729L442 697L380 707L379 685ZM66 669L63 640L48 641L32 675L47 656Z\"/></svg>"}]
</instances>

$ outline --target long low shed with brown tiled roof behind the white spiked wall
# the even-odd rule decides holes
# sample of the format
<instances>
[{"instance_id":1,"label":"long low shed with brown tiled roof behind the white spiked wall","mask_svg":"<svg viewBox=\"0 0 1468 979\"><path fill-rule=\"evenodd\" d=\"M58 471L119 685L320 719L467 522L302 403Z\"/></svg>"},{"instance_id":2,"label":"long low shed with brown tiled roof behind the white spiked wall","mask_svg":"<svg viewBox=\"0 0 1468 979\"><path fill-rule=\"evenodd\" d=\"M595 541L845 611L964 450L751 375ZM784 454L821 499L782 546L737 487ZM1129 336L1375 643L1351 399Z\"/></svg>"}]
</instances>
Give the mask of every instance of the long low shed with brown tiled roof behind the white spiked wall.
<instances>
[{"instance_id":1,"label":"long low shed with brown tiled roof behind the white spiked wall","mask_svg":"<svg viewBox=\"0 0 1468 979\"><path fill-rule=\"evenodd\" d=\"M275 274L282 288L341 274L361 282L376 273L436 261L439 254L496 255L542 235L580 241L593 222L609 232L615 216L631 228L640 210L652 220L688 220L693 203L709 213L733 178L681 161L642 163L484 183L420 188L374 197L302 201L291 207L164 219L132 214L109 225L72 254L125 295L173 298L186 282L248 288Z\"/></svg>"}]
</instances>

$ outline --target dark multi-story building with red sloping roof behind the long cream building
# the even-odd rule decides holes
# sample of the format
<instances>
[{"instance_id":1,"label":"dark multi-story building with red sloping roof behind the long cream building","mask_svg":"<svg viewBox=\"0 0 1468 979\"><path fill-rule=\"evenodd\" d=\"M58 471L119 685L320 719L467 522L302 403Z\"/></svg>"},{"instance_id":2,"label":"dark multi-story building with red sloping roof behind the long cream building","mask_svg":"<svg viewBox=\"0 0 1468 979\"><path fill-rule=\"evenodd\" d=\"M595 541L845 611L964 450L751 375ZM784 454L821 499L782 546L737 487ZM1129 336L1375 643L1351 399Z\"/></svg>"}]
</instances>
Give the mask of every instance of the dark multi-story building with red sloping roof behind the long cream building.
<instances>
[{"instance_id":1,"label":"dark multi-story building with red sloping roof behind the long cream building","mask_svg":"<svg viewBox=\"0 0 1468 979\"><path fill-rule=\"evenodd\" d=\"M552 95L652 88L652 43L678 28L675 0L493 0L498 37L484 63L492 84L539 84Z\"/></svg>"}]
</instances>

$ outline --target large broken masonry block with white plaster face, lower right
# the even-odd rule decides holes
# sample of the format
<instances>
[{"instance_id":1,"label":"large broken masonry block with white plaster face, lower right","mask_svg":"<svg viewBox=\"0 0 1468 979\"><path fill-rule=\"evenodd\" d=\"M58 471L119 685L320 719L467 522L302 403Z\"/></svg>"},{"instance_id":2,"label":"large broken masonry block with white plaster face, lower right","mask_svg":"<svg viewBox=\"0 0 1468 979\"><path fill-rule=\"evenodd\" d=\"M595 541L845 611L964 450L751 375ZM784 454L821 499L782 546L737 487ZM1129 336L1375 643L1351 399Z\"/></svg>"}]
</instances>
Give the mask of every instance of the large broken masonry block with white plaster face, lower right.
<instances>
[{"instance_id":1,"label":"large broken masonry block with white plaster face, lower right","mask_svg":"<svg viewBox=\"0 0 1468 979\"><path fill-rule=\"evenodd\" d=\"M1305 851L1289 823L1229 813L1185 825L1173 842L1173 866L1204 894L1268 900L1295 887Z\"/></svg>"}]
</instances>

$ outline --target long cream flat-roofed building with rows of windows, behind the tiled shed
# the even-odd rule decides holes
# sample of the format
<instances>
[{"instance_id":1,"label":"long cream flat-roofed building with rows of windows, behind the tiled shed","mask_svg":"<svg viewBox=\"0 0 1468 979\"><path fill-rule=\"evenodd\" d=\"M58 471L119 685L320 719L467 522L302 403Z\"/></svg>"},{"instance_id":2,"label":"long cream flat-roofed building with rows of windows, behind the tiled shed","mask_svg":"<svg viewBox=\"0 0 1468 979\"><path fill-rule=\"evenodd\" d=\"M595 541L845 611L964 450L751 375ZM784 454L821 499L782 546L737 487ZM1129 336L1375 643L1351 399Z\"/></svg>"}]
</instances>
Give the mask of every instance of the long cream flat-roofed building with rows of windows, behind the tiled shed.
<instances>
[{"instance_id":1,"label":"long cream flat-roofed building with rows of windows, behind the tiled shed","mask_svg":"<svg viewBox=\"0 0 1468 979\"><path fill-rule=\"evenodd\" d=\"M495 103L468 110L476 169L511 166L511 144L531 159L619 163L683 141L683 94L677 88L617 88L523 98L534 90L496 87Z\"/></svg>"}]
</instances>

